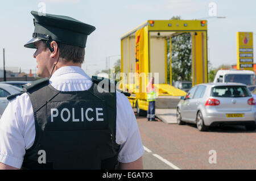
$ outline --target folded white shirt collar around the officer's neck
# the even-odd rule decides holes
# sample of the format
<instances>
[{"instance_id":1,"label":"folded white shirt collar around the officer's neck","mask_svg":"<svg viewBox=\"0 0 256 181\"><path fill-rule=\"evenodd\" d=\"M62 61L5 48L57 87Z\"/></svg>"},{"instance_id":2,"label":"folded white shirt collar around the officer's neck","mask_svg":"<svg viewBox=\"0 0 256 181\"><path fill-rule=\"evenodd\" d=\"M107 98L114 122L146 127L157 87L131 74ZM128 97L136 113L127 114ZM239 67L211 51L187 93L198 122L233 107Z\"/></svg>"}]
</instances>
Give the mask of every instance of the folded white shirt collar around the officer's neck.
<instances>
[{"instance_id":1,"label":"folded white shirt collar around the officer's neck","mask_svg":"<svg viewBox=\"0 0 256 181\"><path fill-rule=\"evenodd\" d=\"M52 79L59 77L60 75L63 75L63 74L68 74L68 73L81 74L81 75L84 75L86 78L90 79L90 77L85 73L85 71L82 70L79 66L63 66L63 67L57 69L52 74L52 77L49 80L52 81Z\"/></svg>"}]
</instances>

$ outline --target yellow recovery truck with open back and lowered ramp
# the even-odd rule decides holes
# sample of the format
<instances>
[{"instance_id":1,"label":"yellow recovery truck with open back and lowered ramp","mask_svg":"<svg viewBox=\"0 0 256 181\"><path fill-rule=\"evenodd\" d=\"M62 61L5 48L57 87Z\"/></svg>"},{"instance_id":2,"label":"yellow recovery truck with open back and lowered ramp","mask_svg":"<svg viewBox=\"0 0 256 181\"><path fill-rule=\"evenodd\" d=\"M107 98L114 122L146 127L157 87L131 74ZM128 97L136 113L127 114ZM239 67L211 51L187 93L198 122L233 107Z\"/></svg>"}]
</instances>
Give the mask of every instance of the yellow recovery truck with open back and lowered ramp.
<instances>
[{"instance_id":1,"label":"yellow recovery truck with open back and lowered ramp","mask_svg":"<svg viewBox=\"0 0 256 181\"><path fill-rule=\"evenodd\" d=\"M147 20L121 37L121 88L129 91L131 106L144 115L148 108L146 86L155 77L158 99L156 108L175 108L186 92L167 80L167 40L181 33L192 37L192 85L208 82L207 21L205 20Z\"/></svg>"}]
</instances>

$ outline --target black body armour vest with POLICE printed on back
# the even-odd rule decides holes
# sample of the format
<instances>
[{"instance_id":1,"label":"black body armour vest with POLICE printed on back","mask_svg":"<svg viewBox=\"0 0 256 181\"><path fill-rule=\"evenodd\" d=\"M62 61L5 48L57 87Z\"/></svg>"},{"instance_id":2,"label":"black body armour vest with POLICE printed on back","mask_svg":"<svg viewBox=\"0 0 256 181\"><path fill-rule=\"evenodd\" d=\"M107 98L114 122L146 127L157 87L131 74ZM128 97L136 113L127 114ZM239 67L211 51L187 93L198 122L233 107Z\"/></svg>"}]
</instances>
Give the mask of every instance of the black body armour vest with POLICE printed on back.
<instances>
[{"instance_id":1,"label":"black body armour vest with POLICE printed on back","mask_svg":"<svg viewBox=\"0 0 256 181\"><path fill-rule=\"evenodd\" d=\"M23 169L115 169L115 92L100 92L97 83L86 91L59 91L47 78L29 86L36 134Z\"/></svg>"}]
</instances>

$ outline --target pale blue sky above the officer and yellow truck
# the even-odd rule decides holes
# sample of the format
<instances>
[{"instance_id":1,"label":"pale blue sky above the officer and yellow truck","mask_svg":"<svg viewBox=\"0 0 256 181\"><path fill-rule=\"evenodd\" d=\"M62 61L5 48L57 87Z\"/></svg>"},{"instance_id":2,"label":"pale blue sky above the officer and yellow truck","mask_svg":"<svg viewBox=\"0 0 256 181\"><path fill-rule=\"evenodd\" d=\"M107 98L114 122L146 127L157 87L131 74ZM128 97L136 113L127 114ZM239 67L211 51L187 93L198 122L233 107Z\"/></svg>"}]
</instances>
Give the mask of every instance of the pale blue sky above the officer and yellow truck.
<instances>
[{"instance_id":1,"label":"pale blue sky above the officer and yellow truck","mask_svg":"<svg viewBox=\"0 0 256 181\"><path fill-rule=\"evenodd\" d=\"M148 19L170 19L180 15L182 19L209 17L209 3L217 5L217 16L225 19L208 20L208 59L213 67L221 64L236 64L236 32L254 32L256 39L256 1L203 1L203 0L45 0L45 1L1 1L0 2L0 67L5 48L6 66L18 66L22 71L35 71L36 60L33 49L23 45L31 39L34 25L31 10L39 11L40 2L45 3L46 12L72 16L81 22L96 27L87 40L85 63L88 74L105 69L106 57L121 54L120 37ZM110 58L113 66L118 56Z\"/></svg>"}]
</instances>

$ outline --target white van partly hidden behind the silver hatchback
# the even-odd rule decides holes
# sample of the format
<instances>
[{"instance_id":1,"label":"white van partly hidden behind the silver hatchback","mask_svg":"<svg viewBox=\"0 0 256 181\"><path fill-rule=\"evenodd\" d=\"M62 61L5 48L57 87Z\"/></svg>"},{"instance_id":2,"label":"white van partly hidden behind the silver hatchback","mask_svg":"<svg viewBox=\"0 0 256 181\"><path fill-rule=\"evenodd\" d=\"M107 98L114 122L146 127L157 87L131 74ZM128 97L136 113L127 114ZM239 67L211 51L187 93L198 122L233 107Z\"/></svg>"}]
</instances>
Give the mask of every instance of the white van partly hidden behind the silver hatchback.
<instances>
[{"instance_id":1,"label":"white van partly hidden behind the silver hatchback","mask_svg":"<svg viewBox=\"0 0 256 181\"><path fill-rule=\"evenodd\" d=\"M238 82L247 86L255 85L255 73L250 70L218 70L213 82Z\"/></svg>"}]
</instances>

